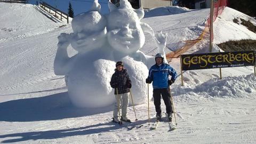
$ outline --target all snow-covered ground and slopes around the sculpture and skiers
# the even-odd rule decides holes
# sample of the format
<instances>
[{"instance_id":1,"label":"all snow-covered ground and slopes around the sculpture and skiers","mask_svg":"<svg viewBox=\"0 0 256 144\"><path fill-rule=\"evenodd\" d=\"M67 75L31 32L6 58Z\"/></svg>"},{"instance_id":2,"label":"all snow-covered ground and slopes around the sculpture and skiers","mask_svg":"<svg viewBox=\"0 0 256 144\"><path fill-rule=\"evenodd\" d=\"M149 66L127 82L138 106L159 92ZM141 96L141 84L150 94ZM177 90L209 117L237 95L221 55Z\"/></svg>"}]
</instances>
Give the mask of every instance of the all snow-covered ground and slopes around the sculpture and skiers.
<instances>
[{"instance_id":1,"label":"all snow-covered ground and slopes around the sculpture and skiers","mask_svg":"<svg viewBox=\"0 0 256 144\"><path fill-rule=\"evenodd\" d=\"M79 109L71 105L63 76L54 75L57 37L71 33L70 25L50 20L29 4L0 3L0 8L0 142L256 143L253 67L222 68L222 79L219 69L185 71L185 86L180 86L180 77L171 86L177 130L169 132L167 123L150 130L147 103L135 106L138 121L119 126L111 122L112 106ZM210 10L172 11L169 7L169 14L166 8L163 11L151 12L152 17L146 14L142 21L155 31L168 33L167 46L177 47L180 41L202 33ZM214 22L214 43L256 39L255 33L234 23L233 17L250 19L227 7ZM204 39L196 44L193 52L207 51L207 42ZM74 55L76 52L69 48L69 54ZM154 49L153 39L146 34L141 50L154 55ZM170 63L178 74L179 62L173 59ZM153 101L149 105L153 124ZM164 112L164 105L162 108ZM134 121L132 106L128 116ZM132 130L126 127L141 124Z\"/></svg>"}]
</instances>

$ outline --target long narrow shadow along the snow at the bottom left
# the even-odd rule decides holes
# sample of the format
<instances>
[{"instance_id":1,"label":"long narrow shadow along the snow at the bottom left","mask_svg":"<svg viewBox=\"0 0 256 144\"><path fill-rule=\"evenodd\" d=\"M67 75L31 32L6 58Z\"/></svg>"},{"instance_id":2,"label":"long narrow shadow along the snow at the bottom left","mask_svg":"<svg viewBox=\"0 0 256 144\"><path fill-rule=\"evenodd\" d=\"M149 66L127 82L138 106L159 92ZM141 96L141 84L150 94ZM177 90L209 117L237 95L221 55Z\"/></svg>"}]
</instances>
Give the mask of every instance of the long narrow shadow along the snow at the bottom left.
<instances>
[{"instance_id":1,"label":"long narrow shadow along the snow at the bottom left","mask_svg":"<svg viewBox=\"0 0 256 144\"><path fill-rule=\"evenodd\" d=\"M27 141L27 140L39 140L39 139L58 139L58 138L65 138L65 137L70 137L74 135L87 135L87 134L109 132L117 129L121 129L121 127L118 124L114 124L113 122L108 122L104 124L101 123L101 124L95 124L95 125L72 128L72 129L5 134L5 135L0 135L0 138L12 137L13 139L1 141L2 143L9 143L9 142L20 142L20 141Z\"/></svg>"}]
</instances>

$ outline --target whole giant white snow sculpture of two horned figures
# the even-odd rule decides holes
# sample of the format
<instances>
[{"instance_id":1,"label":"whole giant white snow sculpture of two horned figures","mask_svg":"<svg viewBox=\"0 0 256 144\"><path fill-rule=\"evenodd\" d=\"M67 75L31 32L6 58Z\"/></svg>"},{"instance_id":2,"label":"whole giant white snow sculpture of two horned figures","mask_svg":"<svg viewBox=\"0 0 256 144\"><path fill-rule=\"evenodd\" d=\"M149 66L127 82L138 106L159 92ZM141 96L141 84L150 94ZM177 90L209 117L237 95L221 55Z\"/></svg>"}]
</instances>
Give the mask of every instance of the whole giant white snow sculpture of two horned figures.
<instances>
[{"instance_id":1,"label":"whole giant white snow sculpture of two horned figures","mask_svg":"<svg viewBox=\"0 0 256 144\"><path fill-rule=\"evenodd\" d=\"M155 58L143 54L145 32L156 41L158 51L163 52L167 35L154 34L153 29L140 22L142 8L134 10L127 0L116 7L109 2L110 13L100 14L98 0L94 0L89 12L77 15L71 22L74 33L62 33L54 60L54 73L65 75L70 100L77 107L105 107L114 103L114 90L110 78L115 61L124 61L132 81L132 96L135 105L147 101L148 68ZM69 58L67 47L77 50ZM150 97L151 97L150 86ZM131 101L130 101L131 103Z\"/></svg>"}]
</instances>

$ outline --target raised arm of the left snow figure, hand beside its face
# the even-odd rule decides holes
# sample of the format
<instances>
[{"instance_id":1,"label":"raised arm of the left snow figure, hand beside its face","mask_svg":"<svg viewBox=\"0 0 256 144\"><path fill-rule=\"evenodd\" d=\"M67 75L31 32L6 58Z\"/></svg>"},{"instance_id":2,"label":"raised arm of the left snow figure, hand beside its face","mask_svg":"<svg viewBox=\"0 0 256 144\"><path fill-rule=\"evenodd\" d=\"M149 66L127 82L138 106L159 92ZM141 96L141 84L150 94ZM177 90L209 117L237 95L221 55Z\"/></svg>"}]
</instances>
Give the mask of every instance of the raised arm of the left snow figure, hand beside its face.
<instances>
[{"instance_id":1,"label":"raised arm of the left snow figure, hand beside its face","mask_svg":"<svg viewBox=\"0 0 256 144\"><path fill-rule=\"evenodd\" d=\"M58 50L56 53L56 57L54 59L54 73L55 75L66 75L69 71L69 61L67 47L70 44L69 39L70 35L66 33L61 33L58 36Z\"/></svg>"}]
</instances>

